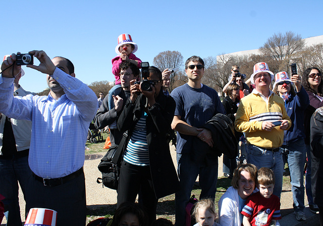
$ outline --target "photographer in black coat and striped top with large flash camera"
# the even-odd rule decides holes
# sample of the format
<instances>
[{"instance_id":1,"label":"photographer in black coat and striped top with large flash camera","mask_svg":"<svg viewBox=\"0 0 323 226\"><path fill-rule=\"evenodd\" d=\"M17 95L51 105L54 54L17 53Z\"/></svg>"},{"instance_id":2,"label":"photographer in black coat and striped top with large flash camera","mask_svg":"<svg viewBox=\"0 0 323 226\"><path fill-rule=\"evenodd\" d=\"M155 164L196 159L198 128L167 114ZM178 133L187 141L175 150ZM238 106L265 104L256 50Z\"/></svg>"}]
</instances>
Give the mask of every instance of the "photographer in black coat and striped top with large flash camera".
<instances>
[{"instance_id":1,"label":"photographer in black coat and striped top with large flash camera","mask_svg":"<svg viewBox=\"0 0 323 226\"><path fill-rule=\"evenodd\" d=\"M158 199L175 193L179 183L166 141L175 102L163 95L160 70L147 62L141 67L144 80L130 81L130 98L117 123L130 137L120 168L117 208L134 203L140 191L139 204L147 211L150 225L156 219Z\"/></svg>"}]
</instances>

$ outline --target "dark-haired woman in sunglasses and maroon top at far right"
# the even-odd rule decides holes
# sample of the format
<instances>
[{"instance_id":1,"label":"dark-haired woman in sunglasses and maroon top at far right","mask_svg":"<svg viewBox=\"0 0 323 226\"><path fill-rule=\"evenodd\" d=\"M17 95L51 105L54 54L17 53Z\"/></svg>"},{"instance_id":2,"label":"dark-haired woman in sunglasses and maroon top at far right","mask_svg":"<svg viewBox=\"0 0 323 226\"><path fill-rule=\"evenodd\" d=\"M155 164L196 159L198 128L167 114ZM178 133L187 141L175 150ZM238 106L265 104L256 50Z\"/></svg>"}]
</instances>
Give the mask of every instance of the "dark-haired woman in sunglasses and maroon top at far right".
<instances>
[{"instance_id":1,"label":"dark-haired woman in sunglasses and maroon top at far right","mask_svg":"<svg viewBox=\"0 0 323 226\"><path fill-rule=\"evenodd\" d=\"M311 158L309 137L311 116L317 108L323 107L323 81L321 71L316 67L307 68L302 76L302 85L304 86L309 98L309 106L305 110L304 115L305 145L307 154L305 190L310 211L318 214L318 206L313 202L311 191Z\"/></svg>"}]
</instances>

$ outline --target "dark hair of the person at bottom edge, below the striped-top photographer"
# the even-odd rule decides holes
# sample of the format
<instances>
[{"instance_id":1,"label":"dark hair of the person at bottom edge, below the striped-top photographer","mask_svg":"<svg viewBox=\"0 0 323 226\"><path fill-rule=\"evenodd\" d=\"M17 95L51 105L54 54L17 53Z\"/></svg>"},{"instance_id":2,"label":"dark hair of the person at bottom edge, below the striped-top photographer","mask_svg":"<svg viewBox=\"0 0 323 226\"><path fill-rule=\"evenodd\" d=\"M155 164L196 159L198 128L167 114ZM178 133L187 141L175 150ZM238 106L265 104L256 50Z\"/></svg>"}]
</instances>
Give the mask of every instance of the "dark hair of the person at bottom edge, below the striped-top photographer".
<instances>
[{"instance_id":1,"label":"dark hair of the person at bottom edge, below the striped-top photographer","mask_svg":"<svg viewBox=\"0 0 323 226\"><path fill-rule=\"evenodd\" d=\"M122 203L119 206L119 208L116 210L115 215L113 216L113 222L111 226L119 226L121 218L127 213L132 213L138 217L138 226L148 226L148 217L145 211L138 204L129 202Z\"/></svg>"}]
</instances>

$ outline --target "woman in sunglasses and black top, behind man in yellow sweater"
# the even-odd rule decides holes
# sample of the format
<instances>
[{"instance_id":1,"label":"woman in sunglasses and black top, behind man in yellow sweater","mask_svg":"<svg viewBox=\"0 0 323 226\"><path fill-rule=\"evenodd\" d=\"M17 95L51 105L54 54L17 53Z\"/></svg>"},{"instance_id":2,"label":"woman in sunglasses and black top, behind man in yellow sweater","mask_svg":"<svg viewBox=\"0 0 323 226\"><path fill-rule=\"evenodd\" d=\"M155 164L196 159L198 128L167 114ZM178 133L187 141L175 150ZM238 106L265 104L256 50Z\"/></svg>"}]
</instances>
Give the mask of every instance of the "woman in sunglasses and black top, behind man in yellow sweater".
<instances>
[{"instance_id":1,"label":"woman in sunglasses and black top, behind man in yellow sweater","mask_svg":"<svg viewBox=\"0 0 323 226\"><path fill-rule=\"evenodd\" d=\"M236 114L239 107L239 85L237 83L231 83L227 88L227 96L222 102L223 107L226 109L226 115L234 122L236 120ZM242 132L237 132L235 129L235 135L239 142L239 138L243 135ZM233 171L237 167L236 158L229 158L223 156L223 174L226 177L232 178Z\"/></svg>"}]
</instances>

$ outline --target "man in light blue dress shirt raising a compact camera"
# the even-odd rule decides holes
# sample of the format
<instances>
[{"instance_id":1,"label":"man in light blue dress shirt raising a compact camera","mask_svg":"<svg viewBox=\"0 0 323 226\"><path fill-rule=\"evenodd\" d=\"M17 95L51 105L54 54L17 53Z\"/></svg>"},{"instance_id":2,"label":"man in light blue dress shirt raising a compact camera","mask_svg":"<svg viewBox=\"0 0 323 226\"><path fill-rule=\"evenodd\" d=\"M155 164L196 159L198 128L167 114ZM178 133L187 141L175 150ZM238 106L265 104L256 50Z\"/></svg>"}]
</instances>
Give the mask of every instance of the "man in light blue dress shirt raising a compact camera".
<instances>
[{"instance_id":1,"label":"man in light blue dress shirt raising a compact camera","mask_svg":"<svg viewBox=\"0 0 323 226\"><path fill-rule=\"evenodd\" d=\"M53 209L58 212L57 225L85 225L84 148L97 111L96 95L75 78L70 60L50 60L44 51L26 55L40 61L27 67L47 74L48 96L13 96L14 79L21 71L15 54L3 62L0 76L0 112L32 121L26 210Z\"/></svg>"}]
</instances>

